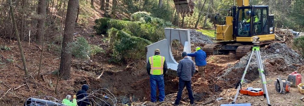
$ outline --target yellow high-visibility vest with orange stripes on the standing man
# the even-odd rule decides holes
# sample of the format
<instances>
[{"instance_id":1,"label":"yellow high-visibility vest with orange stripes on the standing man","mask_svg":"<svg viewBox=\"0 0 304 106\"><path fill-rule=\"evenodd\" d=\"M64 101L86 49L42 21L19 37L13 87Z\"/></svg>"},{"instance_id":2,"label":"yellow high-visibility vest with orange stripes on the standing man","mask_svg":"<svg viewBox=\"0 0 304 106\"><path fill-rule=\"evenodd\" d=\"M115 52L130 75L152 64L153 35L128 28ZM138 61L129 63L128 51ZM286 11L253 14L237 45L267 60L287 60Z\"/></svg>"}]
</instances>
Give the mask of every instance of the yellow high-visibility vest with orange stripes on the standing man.
<instances>
[{"instance_id":1,"label":"yellow high-visibility vest with orange stripes on the standing man","mask_svg":"<svg viewBox=\"0 0 304 106\"><path fill-rule=\"evenodd\" d=\"M151 70L151 75L163 75L164 74L164 61L165 57L160 55L154 55L149 57Z\"/></svg>"}]
</instances>

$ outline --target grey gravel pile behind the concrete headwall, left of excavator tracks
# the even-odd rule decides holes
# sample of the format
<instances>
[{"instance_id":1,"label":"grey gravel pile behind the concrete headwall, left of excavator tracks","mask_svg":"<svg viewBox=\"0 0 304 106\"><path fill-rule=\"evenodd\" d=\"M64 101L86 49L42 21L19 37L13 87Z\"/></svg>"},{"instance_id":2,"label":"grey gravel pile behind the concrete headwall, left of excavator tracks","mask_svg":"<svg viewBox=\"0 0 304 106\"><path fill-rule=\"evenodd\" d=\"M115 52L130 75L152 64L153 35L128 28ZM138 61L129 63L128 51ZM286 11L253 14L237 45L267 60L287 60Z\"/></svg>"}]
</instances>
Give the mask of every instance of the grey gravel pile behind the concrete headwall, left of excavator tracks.
<instances>
[{"instance_id":1,"label":"grey gravel pile behind the concrete headwall, left of excavator tracks","mask_svg":"<svg viewBox=\"0 0 304 106\"><path fill-rule=\"evenodd\" d=\"M194 29L190 30L191 42L202 43L202 44L212 44L213 41L202 32L196 31Z\"/></svg>"}]
</instances>

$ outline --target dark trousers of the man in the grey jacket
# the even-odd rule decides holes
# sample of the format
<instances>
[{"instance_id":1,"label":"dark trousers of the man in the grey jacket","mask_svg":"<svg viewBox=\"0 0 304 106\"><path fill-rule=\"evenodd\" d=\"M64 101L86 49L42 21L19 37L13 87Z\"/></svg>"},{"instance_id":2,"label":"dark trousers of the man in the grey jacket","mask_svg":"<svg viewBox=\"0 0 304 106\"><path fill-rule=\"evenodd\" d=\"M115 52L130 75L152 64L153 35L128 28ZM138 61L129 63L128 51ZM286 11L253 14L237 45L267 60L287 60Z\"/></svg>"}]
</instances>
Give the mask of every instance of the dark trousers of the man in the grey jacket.
<instances>
[{"instance_id":1,"label":"dark trousers of the man in the grey jacket","mask_svg":"<svg viewBox=\"0 0 304 106\"><path fill-rule=\"evenodd\" d=\"M179 78L178 92L177 92L177 96L176 96L174 104L179 104L179 101L181 101L181 94L183 93L185 86L188 91L188 97L190 99L190 104L194 104L194 97L192 94L191 81L185 81L185 80L182 80L181 78Z\"/></svg>"}]
</instances>

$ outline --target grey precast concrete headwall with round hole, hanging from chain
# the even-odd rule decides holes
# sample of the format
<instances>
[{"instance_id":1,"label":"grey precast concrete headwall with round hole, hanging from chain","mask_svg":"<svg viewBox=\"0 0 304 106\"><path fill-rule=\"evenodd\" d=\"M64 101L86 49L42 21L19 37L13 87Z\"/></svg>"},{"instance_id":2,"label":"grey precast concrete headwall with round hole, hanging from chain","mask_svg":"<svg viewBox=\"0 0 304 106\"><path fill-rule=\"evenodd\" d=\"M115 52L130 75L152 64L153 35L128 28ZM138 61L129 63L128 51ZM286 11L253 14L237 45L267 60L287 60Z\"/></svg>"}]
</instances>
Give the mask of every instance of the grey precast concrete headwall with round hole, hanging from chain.
<instances>
[{"instance_id":1,"label":"grey precast concrete headwall with round hole, hanging from chain","mask_svg":"<svg viewBox=\"0 0 304 106\"><path fill-rule=\"evenodd\" d=\"M155 49L160 49L161 56L165 57L168 70L166 75L177 76L178 62L175 61L171 51L171 45L174 40L178 40L184 46L187 53L191 53L190 31L188 29L165 28L165 39L146 46L146 61L154 55ZM189 57L191 59L191 57Z\"/></svg>"}]
</instances>

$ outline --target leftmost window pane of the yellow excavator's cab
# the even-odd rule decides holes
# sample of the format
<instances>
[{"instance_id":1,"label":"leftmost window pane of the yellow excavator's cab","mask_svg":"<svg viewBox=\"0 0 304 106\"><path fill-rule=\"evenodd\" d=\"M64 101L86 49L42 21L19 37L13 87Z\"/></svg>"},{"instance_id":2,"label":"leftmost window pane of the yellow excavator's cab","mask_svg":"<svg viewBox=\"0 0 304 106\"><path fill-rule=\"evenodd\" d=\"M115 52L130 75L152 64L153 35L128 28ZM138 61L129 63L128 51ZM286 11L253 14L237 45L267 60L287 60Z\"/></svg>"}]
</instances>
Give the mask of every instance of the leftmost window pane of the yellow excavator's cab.
<instances>
[{"instance_id":1,"label":"leftmost window pane of the yellow excavator's cab","mask_svg":"<svg viewBox=\"0 0 304 106\"><path fill-rule=\"evenodd\" d=\"M251 8L239 8L237 32L239 36L250 36Z\"/></svg>"}]
</instances>

